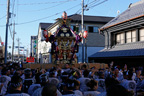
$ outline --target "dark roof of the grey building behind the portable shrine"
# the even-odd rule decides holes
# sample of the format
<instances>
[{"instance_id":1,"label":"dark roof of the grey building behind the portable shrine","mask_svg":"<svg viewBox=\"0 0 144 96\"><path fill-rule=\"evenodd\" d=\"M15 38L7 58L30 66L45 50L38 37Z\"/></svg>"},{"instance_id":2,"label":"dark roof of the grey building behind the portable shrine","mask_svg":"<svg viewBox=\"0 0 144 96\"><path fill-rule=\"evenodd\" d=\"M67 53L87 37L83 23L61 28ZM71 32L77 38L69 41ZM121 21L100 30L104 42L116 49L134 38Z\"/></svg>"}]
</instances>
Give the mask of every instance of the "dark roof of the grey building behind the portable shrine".
<instances>
[{"instance_id":1,"label":"dark roof of the grey building behind the portable shrine","mask_svg":"<svg viewBox=\"0 0 144 96\"><path fill-rule=\"evenodd\" d=\"M81 15L79 14L73 14L68 16L72 19L72 21L81 21ZM114 17L105 17L105 16L88 16L84 15L84 21L85 22L102 22L107 23L110 20L112 20Z\"/></svg>"}]
</instances>

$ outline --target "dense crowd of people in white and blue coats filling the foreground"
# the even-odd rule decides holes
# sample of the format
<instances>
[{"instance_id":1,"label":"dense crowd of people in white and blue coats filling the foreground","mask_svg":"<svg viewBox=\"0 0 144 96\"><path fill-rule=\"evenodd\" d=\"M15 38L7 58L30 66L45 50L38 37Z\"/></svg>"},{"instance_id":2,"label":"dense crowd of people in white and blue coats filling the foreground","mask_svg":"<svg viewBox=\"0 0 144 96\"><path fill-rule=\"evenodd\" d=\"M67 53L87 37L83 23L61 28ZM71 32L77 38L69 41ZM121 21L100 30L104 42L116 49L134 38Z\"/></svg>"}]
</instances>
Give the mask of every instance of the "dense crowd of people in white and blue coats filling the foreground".
<instances>
[{"instance_id":1,"label":"dense crowd of people in white and blue coats filling the foreground","mask_svg":"<svg viewBox=\"0 0 144 96\"><path fill-rule=\"evenodd\" d=\"M65 64L51 69L0 64L1 96L144 96L143 67Z\"/></svg>"}]
</instances>

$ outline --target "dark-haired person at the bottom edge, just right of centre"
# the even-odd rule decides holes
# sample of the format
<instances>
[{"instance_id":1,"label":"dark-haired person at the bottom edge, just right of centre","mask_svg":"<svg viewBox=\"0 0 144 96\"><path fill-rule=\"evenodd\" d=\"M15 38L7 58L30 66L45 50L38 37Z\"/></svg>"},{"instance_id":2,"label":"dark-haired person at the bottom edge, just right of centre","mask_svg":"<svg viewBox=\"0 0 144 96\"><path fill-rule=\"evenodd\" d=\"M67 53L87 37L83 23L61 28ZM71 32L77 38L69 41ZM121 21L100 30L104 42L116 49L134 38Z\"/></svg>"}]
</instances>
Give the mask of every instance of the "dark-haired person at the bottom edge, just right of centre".
<instances>
[{"instance_id":1,"label":"dark-haired person at the bottom edge, just right of centre","mask_svg":"<svg viewBox=\"0 0 144 96\"><path fill-rule=\"evenodd\" d=\"M90 88L88 91L84 92L84 96L97 96L100 92L96 91L98 88L98 82L96 80L91 80L87 83Z\"/></svg>"}]
</instances>

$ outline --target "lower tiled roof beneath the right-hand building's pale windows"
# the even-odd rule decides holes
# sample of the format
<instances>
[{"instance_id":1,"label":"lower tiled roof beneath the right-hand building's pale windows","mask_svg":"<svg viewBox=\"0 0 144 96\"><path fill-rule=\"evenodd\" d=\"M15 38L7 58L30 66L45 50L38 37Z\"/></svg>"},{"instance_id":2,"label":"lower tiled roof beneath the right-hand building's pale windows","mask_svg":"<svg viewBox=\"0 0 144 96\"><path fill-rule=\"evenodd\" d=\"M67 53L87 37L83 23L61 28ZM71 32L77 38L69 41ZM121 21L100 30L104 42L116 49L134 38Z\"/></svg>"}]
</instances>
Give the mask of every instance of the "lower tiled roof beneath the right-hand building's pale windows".
<instances>
[{"instance_id":1,"label":"lower tiled roof beneath the right-hand building's pale windows","mask_svg":"<svg viewBox=\"0 0 144 96\"><path fill-rule=\"evenodd\" d=\"M103 49L90 57L144 56L144 42L124 44L111 49Z\"/></svg>"}]
</instances>

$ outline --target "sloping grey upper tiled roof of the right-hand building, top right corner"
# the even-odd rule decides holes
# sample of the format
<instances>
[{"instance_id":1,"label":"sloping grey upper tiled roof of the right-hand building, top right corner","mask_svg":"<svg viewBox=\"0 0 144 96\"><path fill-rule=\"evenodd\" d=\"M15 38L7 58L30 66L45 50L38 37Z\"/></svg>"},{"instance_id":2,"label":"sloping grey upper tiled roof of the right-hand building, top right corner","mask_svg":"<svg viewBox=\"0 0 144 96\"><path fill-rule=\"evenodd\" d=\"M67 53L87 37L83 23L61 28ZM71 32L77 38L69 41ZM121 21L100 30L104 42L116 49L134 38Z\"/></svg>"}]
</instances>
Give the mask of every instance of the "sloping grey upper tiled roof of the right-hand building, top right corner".
<instances>
[{"instance_id":1,"label":"sloping grey upper tiled roof of the right-hand building, top right corner","mask_svg":"<svg viewBox=\"0 0 144 96\"><path fill-rule=\"evenodd\" d=\"M144 0L141 0L137 3L130 5L126 11L124 11L123 13L121 13L120 15L118 15L117 17L112 19L110 22L105 24L100 29L102 30L104 28L108 28L110 26L114 26L114 25L117 25L119 23L129 21L131 19L143 16L143 15L144 15Z\"/></svg>"}]
</instances>

